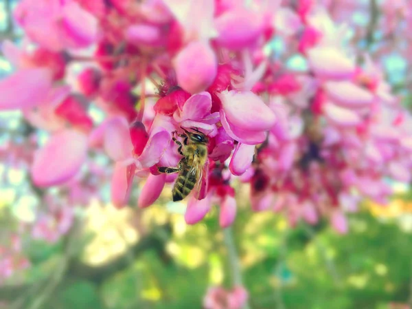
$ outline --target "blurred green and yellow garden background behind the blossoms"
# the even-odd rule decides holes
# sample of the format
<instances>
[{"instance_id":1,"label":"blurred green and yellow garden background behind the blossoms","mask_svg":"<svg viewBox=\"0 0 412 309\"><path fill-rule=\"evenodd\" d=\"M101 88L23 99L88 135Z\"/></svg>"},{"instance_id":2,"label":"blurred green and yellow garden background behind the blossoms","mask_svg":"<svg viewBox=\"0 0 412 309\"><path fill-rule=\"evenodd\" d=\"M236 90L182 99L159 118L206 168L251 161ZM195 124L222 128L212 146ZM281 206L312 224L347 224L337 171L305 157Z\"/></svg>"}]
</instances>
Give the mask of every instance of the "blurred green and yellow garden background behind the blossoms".
<instances>
[{"instance_id":1,"label":"blurred green and yellow garden background behind the blossoms","mask_svg":"<svg viewBox=\"0 0 412 309\"><path fill-rule=\"evenodd\" d=\"M1 40L22 36L10 17L16 2L0 0ZM353 16L358 25L365 19ZM406 62L392 53L383 64L408 105ZM0 78L11 70L0 57ZM0 147L7 149L10 140L30 147L24 137L31 129L19 112L1 112ZM102 168L107 164L104 158L96 162ZM33 187L19 162L0 162L0 178L0 308L194 309L202 308L210 286L231 288L240 281L255 309L412 308L407 185L393 184L397 194L387 205L363 202L361 211L349 216L345 235L328 222L290 228L282 215L253 213L242 203L249 200L242 184L237 184L238 215L231 228L220 228L216 210L188 226L184 204L170 203L167 188L149 209L119 210L90 198L73 212L56 210L54 220L45 217L27 231L44 192Z\"/></svg>"}]
</instances>

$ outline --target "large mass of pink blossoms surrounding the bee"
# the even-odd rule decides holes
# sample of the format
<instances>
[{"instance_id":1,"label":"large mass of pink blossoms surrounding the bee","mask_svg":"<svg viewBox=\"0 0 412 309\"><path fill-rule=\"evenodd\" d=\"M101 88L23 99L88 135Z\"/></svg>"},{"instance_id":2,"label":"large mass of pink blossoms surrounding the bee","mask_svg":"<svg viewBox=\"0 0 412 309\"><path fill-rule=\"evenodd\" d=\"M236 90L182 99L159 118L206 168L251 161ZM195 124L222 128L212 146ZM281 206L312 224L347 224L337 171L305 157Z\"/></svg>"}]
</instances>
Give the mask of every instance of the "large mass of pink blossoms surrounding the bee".
<instances>
[{"instance_id":1,"label":"large mass of pink blossoms surrounding the bee","mask_svg":"<svg viewBox=\"0 0 412 309\"><path fill-rule=\"evenodd\" d=\"M91 175L109 177L111 202L122 207L133 181L144 180L144 208L176 180L157 169L182 158L174 132L196 129L209 140L206 186L187 198L188 224L212 205L220 226L232 224L239 178L254 211L282 211L291 225L328 217L345 233L345 213L361 198L384 203L388 179L410 180L411 116L326 8L310 0L20 1L14 17L25 40L2 45L16 71L0 81L0 109L21 110L48 136L30 160L32 182L58 186L71 205L101 194L102 181L84 186ZM291 55L306 68L290 67ZM93 167L102 155L109 175ZM36 237L66 233L72 214L56 204Z\"/></svg>"}]
</instances>

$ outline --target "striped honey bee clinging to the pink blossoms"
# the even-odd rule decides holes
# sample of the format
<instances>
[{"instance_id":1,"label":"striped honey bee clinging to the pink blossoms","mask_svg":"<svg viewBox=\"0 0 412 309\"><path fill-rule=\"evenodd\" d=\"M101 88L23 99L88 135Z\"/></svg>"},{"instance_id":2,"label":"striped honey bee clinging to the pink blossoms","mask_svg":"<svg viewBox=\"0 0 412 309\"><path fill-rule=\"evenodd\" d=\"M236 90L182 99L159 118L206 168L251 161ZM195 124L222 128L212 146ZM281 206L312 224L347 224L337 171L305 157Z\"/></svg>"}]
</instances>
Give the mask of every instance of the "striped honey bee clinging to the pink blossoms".
<instances>
[{"instance_id":1,"label":"striped honey bee clinging to the pink blossoms","mask_svg":"<svg viewBox=\"0 0 412 309\"><path fill-rule=\"evenodd\" d=\"M183 128L182 128L183 129ZM177 151L183 156L177 167L158 167L160 173L179 173L172 189L173 202L183 200L196 187L198 200L201 191L205 189L207 179L203 170L207 165L207 136L198 129L192 128L196 132L185 129L185 134L178 134L174 131L173 141L179 146ZM182 143L175 136L183 138Z\"/></svg>"}]
</instances>

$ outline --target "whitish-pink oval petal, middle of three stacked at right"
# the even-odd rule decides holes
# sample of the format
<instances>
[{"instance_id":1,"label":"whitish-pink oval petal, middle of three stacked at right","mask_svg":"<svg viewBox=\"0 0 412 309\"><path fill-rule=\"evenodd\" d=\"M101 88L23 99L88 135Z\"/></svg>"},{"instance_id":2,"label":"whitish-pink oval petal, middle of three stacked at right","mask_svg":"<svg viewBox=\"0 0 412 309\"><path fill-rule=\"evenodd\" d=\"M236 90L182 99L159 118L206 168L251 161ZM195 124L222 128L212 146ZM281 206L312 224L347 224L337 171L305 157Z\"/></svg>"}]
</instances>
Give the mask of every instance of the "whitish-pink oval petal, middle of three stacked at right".
<instances>
[{"instance_id":1,"label":"whitish-pink oval petal, middle of three stacked at right","mask_svg":"<svg viewBox=\"0 0 412 309\"><path fill-rule=\"evenodd\" d=\"M343 107L366 107L374 100L374 96L371 92L350 81L328 81L323 87L329 98L331 98L337 105Z\"/></svg>"}]
</instances>

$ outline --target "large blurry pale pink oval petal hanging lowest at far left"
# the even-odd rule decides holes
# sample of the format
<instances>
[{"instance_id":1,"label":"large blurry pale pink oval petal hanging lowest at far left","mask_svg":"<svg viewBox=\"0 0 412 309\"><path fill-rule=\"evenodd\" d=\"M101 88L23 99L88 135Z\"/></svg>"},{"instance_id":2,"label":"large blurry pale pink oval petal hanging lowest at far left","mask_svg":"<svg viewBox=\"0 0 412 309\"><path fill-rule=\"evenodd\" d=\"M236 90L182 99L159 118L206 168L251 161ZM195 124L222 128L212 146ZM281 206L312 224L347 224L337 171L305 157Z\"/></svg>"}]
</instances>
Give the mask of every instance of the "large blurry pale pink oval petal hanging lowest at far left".
<instances>
[{"instance_id":1,"label":"large blurry pale pink oval petal hanging lowest at far left","mask_svg":"<svg viewBox=\"0 0 412 309\"><path fill-rule=\"evenodd\" d=\"M87 158L87 136L67 129L54 134L34 154L31 173L34 184L47 187L72 178Z\"/></svg>"}]
</instances>

